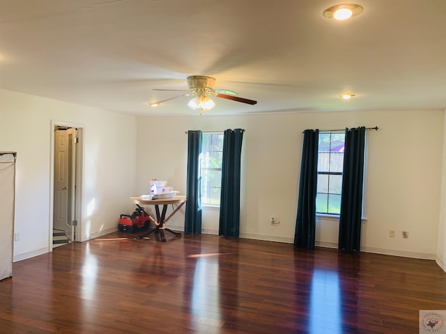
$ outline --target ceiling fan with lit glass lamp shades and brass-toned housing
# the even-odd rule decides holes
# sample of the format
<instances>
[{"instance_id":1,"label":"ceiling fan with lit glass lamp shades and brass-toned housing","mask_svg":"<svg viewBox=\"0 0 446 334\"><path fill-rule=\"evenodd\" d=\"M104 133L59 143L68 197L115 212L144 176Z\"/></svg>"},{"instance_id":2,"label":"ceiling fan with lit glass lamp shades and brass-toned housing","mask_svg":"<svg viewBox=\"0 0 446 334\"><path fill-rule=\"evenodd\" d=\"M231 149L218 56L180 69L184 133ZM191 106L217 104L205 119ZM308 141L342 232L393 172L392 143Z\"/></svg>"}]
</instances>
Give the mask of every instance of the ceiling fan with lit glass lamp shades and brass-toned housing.
<instances>
[{"instance_id":1,"label":"ceiling fan with lit glass lamp shades and brass-toned housing","mask_svg":"<svg viewBox=\"0 0 446 334\"><path fill-rule=\"evenodd\" d=\"M189 90L177 90L177 89L154 89L154 90L169 90L169 91L182 91L187 92L182 95L170 97L166 100L158 102L148 103L149 106L159 106L162 102L174 100L177 97L182 96L194 96L192 100L187 103L190 109L200 109L201 111L207 111L213 109L215 102L210 99L209 96L221 97L226 100L233 100L236 102L242 102L246 104L256 104L257 101L244 99L243 97L235 96L237 93L231 90L214 89L215 79L213 77L206 77L204 75L192 75L187 77L187 86Z\"/></svg>"}]
</instances>

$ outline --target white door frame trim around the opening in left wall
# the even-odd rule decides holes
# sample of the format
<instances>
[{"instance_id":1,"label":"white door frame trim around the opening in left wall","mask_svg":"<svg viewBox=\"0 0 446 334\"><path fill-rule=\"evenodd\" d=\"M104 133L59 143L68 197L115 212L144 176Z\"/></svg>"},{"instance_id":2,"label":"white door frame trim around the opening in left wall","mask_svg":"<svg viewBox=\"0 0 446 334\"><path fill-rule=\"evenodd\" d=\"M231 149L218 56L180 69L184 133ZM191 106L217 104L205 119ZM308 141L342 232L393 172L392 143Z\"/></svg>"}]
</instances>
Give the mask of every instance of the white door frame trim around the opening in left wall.
<instances>
[{"instance_id":1,"label":"white door frame trim around the opening in left wall","mask_svg":"<svg viewBox=\"0 0 446 334\"><path fill-rule=\"evenodd\" d=\"M48 233L48 250L52 252L53 250L53 219L54 219L54 129L56 127L74 127L77 131L78 142L75 145L76 150L76 191L75 191L75 219L77 220L77 225L74 228L74 237L72 241L82 241L82 193L83 193L83 174L84 174L84 125L73 122L61 122L61 121L51 121L51 161L49 163L50 173L49 173L49 233Z\"/></svg>"}]
</instances>

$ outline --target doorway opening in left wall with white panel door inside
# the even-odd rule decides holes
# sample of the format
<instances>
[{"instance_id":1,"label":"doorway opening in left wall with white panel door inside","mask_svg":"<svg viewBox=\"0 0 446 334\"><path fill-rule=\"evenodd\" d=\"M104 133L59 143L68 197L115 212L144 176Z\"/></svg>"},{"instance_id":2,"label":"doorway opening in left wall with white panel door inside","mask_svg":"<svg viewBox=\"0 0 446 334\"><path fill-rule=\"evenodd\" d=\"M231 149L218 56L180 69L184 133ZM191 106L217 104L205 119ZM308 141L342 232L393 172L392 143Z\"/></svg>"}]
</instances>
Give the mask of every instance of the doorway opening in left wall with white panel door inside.
<instances>
[{"instance_id":1,"label":"doorway opening in left wall with white panel door inside","mask_svg":"<svg viewBox=\"0 0 446 334\"><path fill-rule=\"evenodd\" d=\"M52 126L52 228L50 248L79 241L82 127Z\"/></svg>"}]
</instances>

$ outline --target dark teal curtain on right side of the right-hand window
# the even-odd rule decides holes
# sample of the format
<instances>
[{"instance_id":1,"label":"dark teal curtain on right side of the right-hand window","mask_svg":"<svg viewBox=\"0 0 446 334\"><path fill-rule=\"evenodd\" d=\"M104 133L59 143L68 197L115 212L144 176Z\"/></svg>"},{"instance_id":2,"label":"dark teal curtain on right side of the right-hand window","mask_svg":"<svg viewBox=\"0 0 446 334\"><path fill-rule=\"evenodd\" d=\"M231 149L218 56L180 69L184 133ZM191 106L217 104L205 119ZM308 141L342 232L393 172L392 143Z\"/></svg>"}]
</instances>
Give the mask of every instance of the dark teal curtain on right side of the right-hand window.
<instances>
[{"instance_id":1,"label":"dark teal curtain on right side of the right-hand window","mask_svg":"<svg viewBox=\"0 0 446 334\"><path fill-rule=\"evenodd\" d=\"M346 129L339 249L360 251L365 127Z\"/></svg>"}]
</instances>

